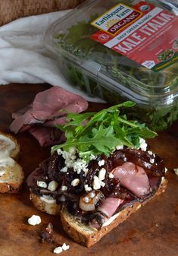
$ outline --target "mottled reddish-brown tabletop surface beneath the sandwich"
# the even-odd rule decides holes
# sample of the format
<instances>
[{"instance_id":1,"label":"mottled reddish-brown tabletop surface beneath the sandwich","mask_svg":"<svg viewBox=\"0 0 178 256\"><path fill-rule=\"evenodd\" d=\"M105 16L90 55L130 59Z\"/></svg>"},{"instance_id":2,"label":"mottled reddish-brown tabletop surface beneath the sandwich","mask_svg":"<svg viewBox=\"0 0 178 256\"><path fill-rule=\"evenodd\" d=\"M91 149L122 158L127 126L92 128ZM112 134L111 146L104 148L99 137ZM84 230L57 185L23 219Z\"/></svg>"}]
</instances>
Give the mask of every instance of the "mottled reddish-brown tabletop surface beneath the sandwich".
<instances>
[{"instance_id":1,"label":"mottled reddish-brown tabletop surface beneath the sandwich","mask_svg":"<svg viewBox=\"0 0 178 256\"><path fill-rule=\"evenodd\" d=\"M0 87L0 130L8 131L11 112L14 112L33 99L37 92L47 89L45 84L13 84ZM92 104L92 109L101 106ZM20 164L25 175L33 171L39 162L50 153L49 148L39 147L30 134L18 134L21 145ZM29 200L27 186L21 194L0 194L0 255L38 256L55 255L53 249L66 242L70 250L62 255L92 256L177 256L178 255L178 176L171 169L178 167L178 125L161 132L149 141L151 150L164 157L169 168L167 191L153 199L134 213L101 242L92 248L71 241L61 228L58 216L48 216L36 210ZM33 214L41 216L42 223L30 226L27 219ZM55 243L40 242L40 234L51 222L55 226Z\"/></svg>"}]
</instances>

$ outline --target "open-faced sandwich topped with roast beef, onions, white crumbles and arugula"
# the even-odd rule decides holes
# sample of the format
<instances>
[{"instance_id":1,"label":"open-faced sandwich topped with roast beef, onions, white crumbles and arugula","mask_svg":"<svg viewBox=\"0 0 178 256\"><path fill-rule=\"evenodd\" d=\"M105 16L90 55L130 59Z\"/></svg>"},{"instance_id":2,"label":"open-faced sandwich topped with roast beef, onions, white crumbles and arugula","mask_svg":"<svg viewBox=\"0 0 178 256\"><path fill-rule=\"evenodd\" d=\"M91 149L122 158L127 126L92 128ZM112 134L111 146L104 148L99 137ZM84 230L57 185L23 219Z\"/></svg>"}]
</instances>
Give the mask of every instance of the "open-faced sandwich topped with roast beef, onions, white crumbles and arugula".
<instances>
[{"instance_id":1,"label":"open-faced sandwich topped with roast beef, onions, white crumbles and arugula","mask_svg":"<svg viewBox=\"0 0 178 256\"><path fill-rule=\"evenodd\" d=\"M155 132L128 121L126 102L100 112L67 114L66 142L29 176L30 199L60 214L64 230L91 246L167 186L163 160L145 142Z\"/></svg>"}]
</instances>

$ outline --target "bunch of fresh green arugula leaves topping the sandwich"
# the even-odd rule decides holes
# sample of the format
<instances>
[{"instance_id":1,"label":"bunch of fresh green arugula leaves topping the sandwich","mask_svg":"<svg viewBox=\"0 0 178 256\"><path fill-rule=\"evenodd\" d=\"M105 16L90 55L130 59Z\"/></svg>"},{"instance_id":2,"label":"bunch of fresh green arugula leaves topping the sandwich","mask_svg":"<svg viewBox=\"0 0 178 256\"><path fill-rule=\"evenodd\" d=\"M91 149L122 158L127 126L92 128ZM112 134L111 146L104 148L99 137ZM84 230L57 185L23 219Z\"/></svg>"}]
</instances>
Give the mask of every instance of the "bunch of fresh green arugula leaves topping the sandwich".
<instances>
[{"instance_id":1,"label":"bunch of fresh green arugula leaves topping the sandwich","mask_svg":"<svg viewBox=\"0 0 178 256\"><path fill-rule=\"evenodd\" d=\"M129 121L126 115L120 115L120 109L133 107L135 103L125 103L102 109L99 112L76 114L67 113L67 123L58 125L65 132L66 142L52 147L52 152L63 148L77 147L80 157L89 161L89 156L109 156L118 145L139 147L139 137L155 137L156 133L145 124Z\"/></svg>"}]
</instances>

